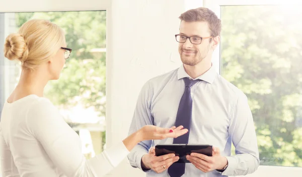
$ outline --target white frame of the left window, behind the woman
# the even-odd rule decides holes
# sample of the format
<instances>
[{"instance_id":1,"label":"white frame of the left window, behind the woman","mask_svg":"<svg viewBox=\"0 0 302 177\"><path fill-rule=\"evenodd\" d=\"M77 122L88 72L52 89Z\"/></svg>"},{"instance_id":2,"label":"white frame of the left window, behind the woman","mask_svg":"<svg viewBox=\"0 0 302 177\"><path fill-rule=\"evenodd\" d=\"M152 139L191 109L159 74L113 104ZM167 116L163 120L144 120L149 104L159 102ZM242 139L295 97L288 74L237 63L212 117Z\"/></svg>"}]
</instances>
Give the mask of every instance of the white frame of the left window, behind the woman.
<instances>
[{"instance_id":1,"label":"white frame of the left window, behind the woman","mask_svg":"<svg viewBox=\"0 0 302 177\"><path fill-rule=\"evenodd\" d=\"M106 11L106 93L107 93L107 104L110 102L111 98L108 98L110 94L110 76L111 69L113 66L112 60L112 0L102 0L102 1L94 1L94 0L85 0L85 1L73 1L73 0L48 0L48 1L40 1L40 0L28 0L28 1L5 1L0 0L0 13L18 13L18 12L60 12L60 11ZM7 68L7 67L4 67ZM5 70L5 76L7 76L9 71ZM6 78L6 80L8 80ZM6 84L7 85L7 84ZM8 95L8 88L5 88L5 96ZM110 105L110 104L109 104ZM111 107L107 107L107 110L111 109ZM111 111L106 110L106 117L111 117ZM112 132L111 119L106 119L106 131ZM108 137L109 136L109 137ZM106 134L106 143L112 144L112 138L110 134Z\"/></svg>"}]
</instances>

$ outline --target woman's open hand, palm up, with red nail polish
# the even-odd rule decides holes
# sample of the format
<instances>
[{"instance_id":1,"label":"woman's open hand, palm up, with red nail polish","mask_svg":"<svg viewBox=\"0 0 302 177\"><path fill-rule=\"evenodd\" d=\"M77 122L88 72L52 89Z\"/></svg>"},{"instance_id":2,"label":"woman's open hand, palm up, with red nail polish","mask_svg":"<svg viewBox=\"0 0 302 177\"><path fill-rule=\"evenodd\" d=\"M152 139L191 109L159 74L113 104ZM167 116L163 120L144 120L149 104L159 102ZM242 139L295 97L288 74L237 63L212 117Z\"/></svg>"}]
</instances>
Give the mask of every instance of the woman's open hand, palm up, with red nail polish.
<instances>
[{"instance_id":1,"label":"woman's open hand, palm up, with red nail polish","mask_svg":"<svg viewBox=\"0 0 302 177\"><path fill-rule=\"evenodd\" d=\"M188 129L183 129L183 126L161 128L153 125L143 126L139 131L138 135L141 141L144 140L162 140L166 138L177 138L188 133Z\"/></svg>"}]
</instances>

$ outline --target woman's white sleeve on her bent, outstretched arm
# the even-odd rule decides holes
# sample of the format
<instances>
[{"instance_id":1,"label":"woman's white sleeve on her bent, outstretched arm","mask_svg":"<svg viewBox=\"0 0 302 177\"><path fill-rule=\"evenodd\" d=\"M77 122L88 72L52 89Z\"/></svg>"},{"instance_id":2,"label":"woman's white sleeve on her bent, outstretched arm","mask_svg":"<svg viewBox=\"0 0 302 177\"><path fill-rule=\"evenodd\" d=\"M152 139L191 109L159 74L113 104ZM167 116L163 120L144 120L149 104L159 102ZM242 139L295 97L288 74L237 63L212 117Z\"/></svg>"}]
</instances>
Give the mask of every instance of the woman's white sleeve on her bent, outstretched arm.
<instances>
[{"instance_id":1,"label":"woman's white sleeve on her bent, outstretched arm","mask_svg":"<svg viewBox=\"0 0 302 177\"><path fill-rule=\"evenodd\" d=\"M41 143L54 165L68 177L104 176L129 153L123 142L120 142L86 160L80 137L46 99L31 106L26 121L29 131Z\"/></svg>"}]
</instances>

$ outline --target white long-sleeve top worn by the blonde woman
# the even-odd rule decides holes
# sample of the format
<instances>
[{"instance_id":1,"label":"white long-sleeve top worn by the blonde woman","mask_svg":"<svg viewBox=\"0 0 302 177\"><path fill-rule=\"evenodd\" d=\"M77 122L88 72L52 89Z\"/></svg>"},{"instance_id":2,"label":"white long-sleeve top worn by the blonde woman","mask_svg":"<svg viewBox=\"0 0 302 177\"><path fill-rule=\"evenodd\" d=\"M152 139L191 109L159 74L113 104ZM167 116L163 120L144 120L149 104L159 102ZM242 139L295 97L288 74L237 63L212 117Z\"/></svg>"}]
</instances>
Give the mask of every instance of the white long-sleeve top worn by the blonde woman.
<instances>
[{"instance_id":1,"label":"white long-sleeve top worn by the blonde woman","mask_svg":"<svg viewBox=\"0 0 302 177\"><path fill-rule=\"evenodd\" d=\"M81 147L78 134L48 99L29 95L5 103L0 122L2 177L99 177L129 153L120 142L87 160Z\"/></svg>"}]
</instances>

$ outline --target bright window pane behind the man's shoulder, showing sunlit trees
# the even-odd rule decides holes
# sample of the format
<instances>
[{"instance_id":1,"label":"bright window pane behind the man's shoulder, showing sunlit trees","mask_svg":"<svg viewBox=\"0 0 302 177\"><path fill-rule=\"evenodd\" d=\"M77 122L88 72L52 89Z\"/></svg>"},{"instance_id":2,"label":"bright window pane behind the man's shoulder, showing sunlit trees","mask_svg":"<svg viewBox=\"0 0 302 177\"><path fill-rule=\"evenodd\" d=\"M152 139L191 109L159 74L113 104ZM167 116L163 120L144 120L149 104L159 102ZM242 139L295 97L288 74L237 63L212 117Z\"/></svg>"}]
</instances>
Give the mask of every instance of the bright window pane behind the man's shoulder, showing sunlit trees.
<instances>
[{"instance_id":1,"label":"bright window pane behind the man's shoulder, showing sunlit trees","mask_svg":"<svg viewBox=\"0 0 302 177\"><path fill-rule=\"evenodd\" d=\"M249 98L262 165L302 167L300 9L221 7L221 75Z\"/></svg>"}]
</instances>

